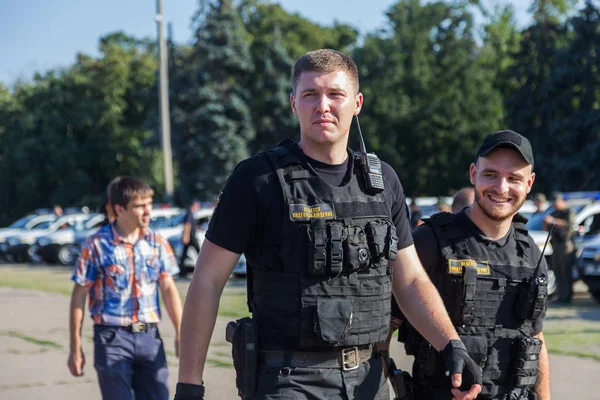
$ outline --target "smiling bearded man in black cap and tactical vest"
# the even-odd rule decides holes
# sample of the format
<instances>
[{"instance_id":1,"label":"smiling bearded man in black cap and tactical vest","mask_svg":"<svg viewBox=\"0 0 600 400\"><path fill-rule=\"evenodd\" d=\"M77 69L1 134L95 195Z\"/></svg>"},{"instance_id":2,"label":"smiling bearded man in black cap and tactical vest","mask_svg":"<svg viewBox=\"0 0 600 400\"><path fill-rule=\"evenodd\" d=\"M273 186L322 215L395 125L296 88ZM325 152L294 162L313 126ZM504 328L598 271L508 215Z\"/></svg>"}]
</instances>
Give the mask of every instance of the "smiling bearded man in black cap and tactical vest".
<instances>
[{"instance_id":1,"label":"smiling bearded man in black cap and tactical vest","mask_svg":"<svg viewBox=\"0 0 600 400\"><path fill-rule=\"evenodd\" d=\"M512 131L488 135L470 167L475 202L413 232L415 247L469 355L483 368L480 399L550 399L542 320L547 267L517 214L531 190L533 153ZM402 319L397 307L392 315ZM404 322L417 400L450 400L440 354Z\"/></svg>"}]
</instances>

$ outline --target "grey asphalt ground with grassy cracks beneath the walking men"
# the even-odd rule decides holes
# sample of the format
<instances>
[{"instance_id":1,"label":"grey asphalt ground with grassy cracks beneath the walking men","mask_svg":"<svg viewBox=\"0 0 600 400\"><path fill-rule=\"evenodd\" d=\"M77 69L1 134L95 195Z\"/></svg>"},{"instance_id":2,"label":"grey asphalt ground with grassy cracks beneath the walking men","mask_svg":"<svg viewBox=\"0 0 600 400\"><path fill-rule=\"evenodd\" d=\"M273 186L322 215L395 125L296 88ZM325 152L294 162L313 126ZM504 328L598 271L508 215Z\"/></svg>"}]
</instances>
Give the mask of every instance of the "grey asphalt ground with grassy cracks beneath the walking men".
<instances>
[{"instance_id":1,"label":"grey asphalt ground with grassy cracks beneath the walking men","mask_svg":"<svg viewBox=\"0 0 600 400\"><path fill-rule=\"evenodd\" d=\"M69 297L6 287L2 279L5 268L10 267L0 265L0 399L101 399L93 367L92 323L89 317L86 315L83 326L83 349L87 360L85 375L75 378L66 366ZM66 274L64 270L60 273ZM178 281L182 293L187 290L187 284L186 281ZM243 283L232 280L231 286L239 288ZM585 307L585 313L577 312L578 304ZM585 323L589 329L600 332L600 307L591 304L592 300L580 292L575 300L574 312L551 307L548 321L565 326ZM231 347L224 339L228 320L218 318L211 340L204 376L207 399L238 399L230 359ZM167 351L172 396L178 360L173 349L174 331L166 315L160 330ZM412 357L405 356L401 344L396 341L392 343L391 356L400 368L410 371ZM550 360L553 399L600 398L594 389L595 380L600 377L599 361L559 354L551 354Z\"/></svg>"}]
</instances>

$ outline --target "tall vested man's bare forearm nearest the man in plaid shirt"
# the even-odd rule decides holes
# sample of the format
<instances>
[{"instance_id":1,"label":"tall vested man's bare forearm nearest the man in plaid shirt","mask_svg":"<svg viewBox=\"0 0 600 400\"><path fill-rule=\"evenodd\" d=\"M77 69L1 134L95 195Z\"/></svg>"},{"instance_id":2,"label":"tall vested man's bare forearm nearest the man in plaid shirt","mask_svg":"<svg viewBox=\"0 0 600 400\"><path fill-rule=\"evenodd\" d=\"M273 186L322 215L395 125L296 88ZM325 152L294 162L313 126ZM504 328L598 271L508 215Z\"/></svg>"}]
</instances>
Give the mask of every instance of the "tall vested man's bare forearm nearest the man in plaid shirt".
<instances>
[{"instance_id":1,"label":"tall vested man's bare forearm nearest the man in plaid shirt","mask_svg":"<svg viewBox=\"0 0 600 400\"><path fill-rule=\"evenodd\" d=\"M199 273L200 271L196 271ZM181 321L179 382L202 383L202 374L212 336L221 291L199 276L192 280Z\"/></svg>"}]
</instances>

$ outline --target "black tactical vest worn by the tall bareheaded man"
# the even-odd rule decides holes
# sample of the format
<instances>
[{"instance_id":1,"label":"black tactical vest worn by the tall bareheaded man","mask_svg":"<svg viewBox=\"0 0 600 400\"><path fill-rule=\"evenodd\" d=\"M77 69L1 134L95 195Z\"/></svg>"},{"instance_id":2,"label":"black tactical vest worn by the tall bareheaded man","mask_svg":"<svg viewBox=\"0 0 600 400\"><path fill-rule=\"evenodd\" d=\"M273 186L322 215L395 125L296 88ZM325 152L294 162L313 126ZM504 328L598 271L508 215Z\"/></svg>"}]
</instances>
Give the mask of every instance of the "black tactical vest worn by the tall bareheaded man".
<instances>
[{"instance_id":1,"label":"black tactical vest worn by the tall bareheaded man","mask_svg":"<svg viewBox=\"0 0 600 400\"><path fill-rule=\"evenodd\" d=\"M352 154L353 173L340 187L323 181L291 141L264 154L286 206L281 247L250 265L259 346L318 350L385 339L388 260L398 239L383 193L366 193Z\"/></svg>"}]
</instances>

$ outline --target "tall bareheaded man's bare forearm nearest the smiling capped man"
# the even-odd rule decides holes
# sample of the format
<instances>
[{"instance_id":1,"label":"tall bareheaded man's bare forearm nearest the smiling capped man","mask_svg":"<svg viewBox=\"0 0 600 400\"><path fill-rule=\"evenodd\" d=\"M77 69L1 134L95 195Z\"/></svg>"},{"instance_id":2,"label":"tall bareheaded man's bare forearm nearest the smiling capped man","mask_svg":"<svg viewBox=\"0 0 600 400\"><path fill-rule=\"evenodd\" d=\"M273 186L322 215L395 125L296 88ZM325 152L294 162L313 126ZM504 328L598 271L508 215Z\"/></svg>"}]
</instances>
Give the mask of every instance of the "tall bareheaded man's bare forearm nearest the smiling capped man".
<instances>
[{"instance_id":1,"label":"tall bareheaded man's bare forearm nearest the smiling capped man","mask_svg":"<svg viewBox=\"0 0 600 400\"><path fill-rule=\"evenodd\" d=\"M402 289L394 285L394 296L409 322L438 351L451 339L459 339L437 289L427 278L417 278Z\"/></svg>"}]
</instances>

